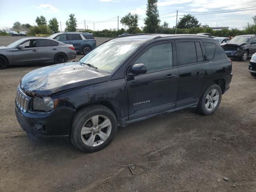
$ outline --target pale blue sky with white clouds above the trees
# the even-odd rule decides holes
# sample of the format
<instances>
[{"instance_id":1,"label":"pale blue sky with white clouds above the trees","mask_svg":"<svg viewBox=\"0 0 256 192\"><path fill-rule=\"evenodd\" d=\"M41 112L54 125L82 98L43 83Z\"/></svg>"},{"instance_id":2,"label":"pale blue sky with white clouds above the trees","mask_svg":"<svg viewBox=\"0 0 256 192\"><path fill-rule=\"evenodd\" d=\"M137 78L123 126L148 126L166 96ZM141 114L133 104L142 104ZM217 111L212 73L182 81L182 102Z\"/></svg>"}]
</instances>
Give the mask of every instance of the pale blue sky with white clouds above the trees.
<instances>
[{"instance_id":1,"label":"pale blue sky with white clouds above the trees","mask_svg":"<svg viewBox=\"0 0 256 192\"><path fill-rule=\"evenodd\" d=\"M69 14L75 14L78 28L84 28L84 20L86 20L86 29L114 29L118 27L118 16L119 28L122 28L124 26L120 24L120 18L129 12L138 14L138 27L143 27L146 4L147 0L0 0L0 29L10 28L16 21L21 24L36 25L36 17L43 15L47 20L56 17L58 22L61 22L63 31ZM240 12L204 13L246 7L252 8ZM256 0L158 0L158 10L161 24L166 21L170 27L176 24L176 10L178 10L178 20L184 14L190 13L195 15L201 24L208 24L210 27L229 26L243 29L247 23L253 23L252 16L256 15Z\"/></svg>"}]
</instances>

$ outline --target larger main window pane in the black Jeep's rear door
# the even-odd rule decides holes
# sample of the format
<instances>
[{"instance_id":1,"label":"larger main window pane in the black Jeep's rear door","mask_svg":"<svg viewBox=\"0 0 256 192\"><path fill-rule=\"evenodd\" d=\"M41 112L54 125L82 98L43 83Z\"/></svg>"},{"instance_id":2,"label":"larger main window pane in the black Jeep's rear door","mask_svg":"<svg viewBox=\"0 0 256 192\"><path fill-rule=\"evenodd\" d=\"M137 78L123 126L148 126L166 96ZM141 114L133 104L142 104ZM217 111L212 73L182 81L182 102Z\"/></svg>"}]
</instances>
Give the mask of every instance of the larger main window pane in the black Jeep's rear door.
<instances>
[{"instance_id":1,"label":"larger main window pane in the black Jeep's rear door","mask_svg":"<svg viewBox=\"0 0 256 192\"><path fill-rule=\"evenodd\" d=\"M187 65L197 62L196 46L194 42L178 42L179 65Z\"/></svg>"}]
</instances>

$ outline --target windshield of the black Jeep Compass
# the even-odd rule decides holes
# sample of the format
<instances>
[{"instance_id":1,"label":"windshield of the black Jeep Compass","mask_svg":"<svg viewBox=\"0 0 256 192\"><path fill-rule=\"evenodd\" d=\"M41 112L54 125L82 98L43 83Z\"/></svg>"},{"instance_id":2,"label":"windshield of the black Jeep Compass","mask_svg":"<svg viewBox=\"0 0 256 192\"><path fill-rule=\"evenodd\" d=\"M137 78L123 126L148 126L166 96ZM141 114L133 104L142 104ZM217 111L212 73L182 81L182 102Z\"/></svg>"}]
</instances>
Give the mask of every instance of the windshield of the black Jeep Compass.
<instances>
[{"instance_id":1,"label":"windshield of the black Jeep Compass","mask_svg":"<svg viewBox=\"0 0 256 192\"><path fill-rule=\"evenodd\" d=\"M86 56L80 59L80 62L92 64L98 70L111 73L119 64L124 62L136 48L140 46L139 42L134 41L109 41L96 49L92 50Z\"/></svg>"}]
</instances>

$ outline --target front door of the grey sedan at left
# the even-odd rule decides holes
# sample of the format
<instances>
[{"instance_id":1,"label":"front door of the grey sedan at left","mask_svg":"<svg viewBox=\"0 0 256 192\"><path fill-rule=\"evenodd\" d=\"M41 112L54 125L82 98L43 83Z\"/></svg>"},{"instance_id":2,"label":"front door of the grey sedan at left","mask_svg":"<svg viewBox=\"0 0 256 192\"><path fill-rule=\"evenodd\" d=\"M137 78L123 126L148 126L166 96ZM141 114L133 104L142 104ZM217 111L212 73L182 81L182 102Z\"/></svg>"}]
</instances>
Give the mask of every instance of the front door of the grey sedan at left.
<instances>
[{"instance_id":1,"label":"front door of the grey sedan at left","mask_svg":"<svg viewBox=\"0 0 256 192\"><path fill-rule=\"evenodd\" d=\"M31 39L27 40L26 42L23 42L22 45L25 46L25 48L13 49L13 57L16 64L22 64L22 63L33 63L40 60L39 54L38 54L38 40L37 39Z\"/></svg>"}]
</instances>

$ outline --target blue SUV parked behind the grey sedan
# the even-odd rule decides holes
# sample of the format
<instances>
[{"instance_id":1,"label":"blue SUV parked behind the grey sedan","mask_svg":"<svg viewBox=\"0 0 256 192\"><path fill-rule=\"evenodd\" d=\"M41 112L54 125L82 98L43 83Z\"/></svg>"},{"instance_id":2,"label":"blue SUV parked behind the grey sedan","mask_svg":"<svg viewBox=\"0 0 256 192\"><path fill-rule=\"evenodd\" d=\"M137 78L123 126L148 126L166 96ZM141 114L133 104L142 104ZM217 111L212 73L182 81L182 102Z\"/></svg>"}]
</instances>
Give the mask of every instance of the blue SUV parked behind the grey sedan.
<instances>
[{"instance_id":1,"label":"blue SUV parked behind the grey sedan","mask_svg":"<svg viewBox=\"0 0 256 192\"><path fill-rule=\"evenodd\" d=\"M63 32L50 35L48 38L58 40L66 44L72 44L77 53L88 54L96 48L96 40L91 33Z\"/></svg>"}]
</instances>

